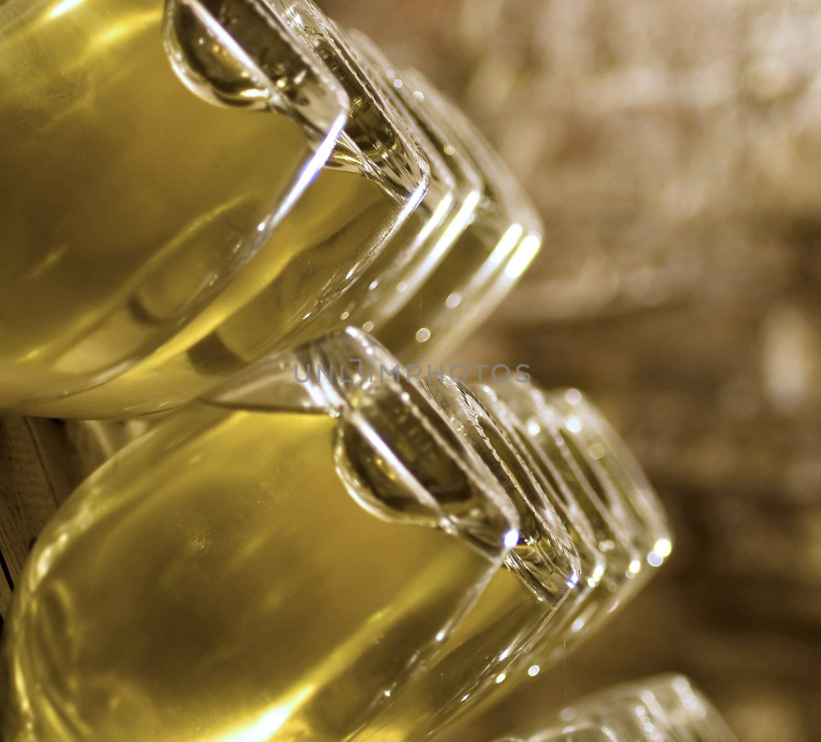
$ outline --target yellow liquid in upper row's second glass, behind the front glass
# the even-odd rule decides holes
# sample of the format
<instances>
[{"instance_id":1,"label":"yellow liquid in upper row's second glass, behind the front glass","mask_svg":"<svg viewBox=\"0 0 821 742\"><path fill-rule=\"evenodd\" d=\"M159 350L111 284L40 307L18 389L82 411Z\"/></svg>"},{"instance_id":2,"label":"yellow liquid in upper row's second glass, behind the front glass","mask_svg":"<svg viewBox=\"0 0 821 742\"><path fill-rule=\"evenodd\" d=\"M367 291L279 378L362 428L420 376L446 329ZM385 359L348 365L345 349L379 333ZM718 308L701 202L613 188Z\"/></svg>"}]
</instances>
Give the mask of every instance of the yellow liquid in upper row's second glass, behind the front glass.
<instances>
[{"instance_id":1,"label":"yellow liquid in upper row's second glass, behind the front glass","mask_svg":"<svg viewBox=\"0 0 821 742\"><path fill-rule=\"evenodd\" d=\"M295 341L351 282L348 274L382 249L402 205L360 172L324 167L217 302L133 369L50 403L48 412L106 417L172 408ZM418 228L420 218L413 213L406 224Z\"/></svg>"}]
</instances>

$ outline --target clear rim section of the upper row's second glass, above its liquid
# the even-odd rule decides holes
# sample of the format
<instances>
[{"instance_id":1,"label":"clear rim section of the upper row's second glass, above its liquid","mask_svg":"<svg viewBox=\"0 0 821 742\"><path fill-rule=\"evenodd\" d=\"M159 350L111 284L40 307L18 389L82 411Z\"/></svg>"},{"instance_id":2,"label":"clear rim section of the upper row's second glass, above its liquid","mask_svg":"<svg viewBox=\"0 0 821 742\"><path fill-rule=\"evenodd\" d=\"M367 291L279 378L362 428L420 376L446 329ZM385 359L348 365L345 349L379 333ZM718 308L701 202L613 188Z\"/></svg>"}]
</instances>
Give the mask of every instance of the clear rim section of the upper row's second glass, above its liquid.
<instances>
[{"instance_id":1,"label":"clear rim section of the upper row's second glass, above its liquid","mask_svg":"<svg viewBox=\"0 0 821 742\"><path fill-rule=\"evenodd\" d=\"M355 154L374 180L382 183L403 203L398 222L404 222L419 204L430 184L428 158L413 140L404 125L405 117L397 110L374 84L355 48L346 42L345 34L325 16L313 0L257 0L265 2L275 14L291 26L291 30L304 40L314 57L335 76L337 82L355 108L361 101L379 113L378 126L364 118L356 118L357 125L376 145L378 158L363 152L349 135L343 132L337 147ZM322 45L322 51L318 48ZM360 103L357 103L357 102ZM353 119L349 118L348 126Z\"/></svg>"}]
</instances>

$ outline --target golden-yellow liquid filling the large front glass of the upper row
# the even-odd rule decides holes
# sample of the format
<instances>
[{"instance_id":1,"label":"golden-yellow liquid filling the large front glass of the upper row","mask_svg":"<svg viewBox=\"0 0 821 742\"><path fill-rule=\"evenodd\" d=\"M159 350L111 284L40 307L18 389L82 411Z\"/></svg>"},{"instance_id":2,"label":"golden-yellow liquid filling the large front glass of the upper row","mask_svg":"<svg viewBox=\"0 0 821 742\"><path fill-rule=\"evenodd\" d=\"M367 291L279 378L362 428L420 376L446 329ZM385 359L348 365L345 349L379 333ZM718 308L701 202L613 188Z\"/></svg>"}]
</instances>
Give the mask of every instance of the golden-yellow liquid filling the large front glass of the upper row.
<instances>
[{"instance_id":1,"label":"golden-yellow liquid filling the large front glass of the upper row","mask_svg":"<svg viewBox=\"0 0 821 742\"><path fill-rule=\"evenodd\" d=\"M162 18L159 0L3 3L0 406L84 389L166 341L254 254L310 158L286 116L187 90ZM272 260L287 255L248 268Z\"/></svg>"}]
</instances>

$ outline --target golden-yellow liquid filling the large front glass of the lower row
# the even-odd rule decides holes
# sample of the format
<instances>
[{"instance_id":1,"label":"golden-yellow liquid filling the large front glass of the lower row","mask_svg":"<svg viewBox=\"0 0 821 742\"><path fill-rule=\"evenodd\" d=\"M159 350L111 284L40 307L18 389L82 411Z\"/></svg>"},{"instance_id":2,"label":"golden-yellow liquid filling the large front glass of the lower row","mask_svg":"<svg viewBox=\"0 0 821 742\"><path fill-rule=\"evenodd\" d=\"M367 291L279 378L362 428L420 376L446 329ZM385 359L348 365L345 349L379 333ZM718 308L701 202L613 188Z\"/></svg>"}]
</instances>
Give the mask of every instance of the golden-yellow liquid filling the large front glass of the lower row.
<instances>
[{"instance_id":1,"label":"golden-yellow liquid filling the large front glass of the lower row","mask_svg":"<svg viewBox=\"0 0 821 742\"><path fill-rule=\"evenodd\" d=\"M190 406L75 492L4 632L4 739L338 742L401 698L493 564L362 509L336 427Z\"/></svg>"}]
</instances>

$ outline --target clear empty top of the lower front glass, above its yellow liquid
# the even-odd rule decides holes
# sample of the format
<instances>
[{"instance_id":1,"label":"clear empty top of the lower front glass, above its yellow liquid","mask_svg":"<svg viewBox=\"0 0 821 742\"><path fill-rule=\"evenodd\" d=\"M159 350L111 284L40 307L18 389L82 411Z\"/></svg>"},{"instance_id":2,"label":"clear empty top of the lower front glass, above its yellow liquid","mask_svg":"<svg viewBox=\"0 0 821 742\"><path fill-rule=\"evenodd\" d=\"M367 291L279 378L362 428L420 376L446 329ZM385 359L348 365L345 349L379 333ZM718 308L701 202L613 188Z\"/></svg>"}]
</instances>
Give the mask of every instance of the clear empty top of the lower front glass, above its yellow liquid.
<instances>
[{"instance_id":1,"label":"clear empty top of the lower front glass, above its yellow liquid","mask_svg":"<svg viewBox=\"0 0 821 742\"><path fill-rule=\"evenodd\" d=\"M368 335L349 328L264 360L206 402L338 419L337 473L385 520L441 528L498 558L516 543L516 509L424 387Z\"/></svg>"}]
</instances>

